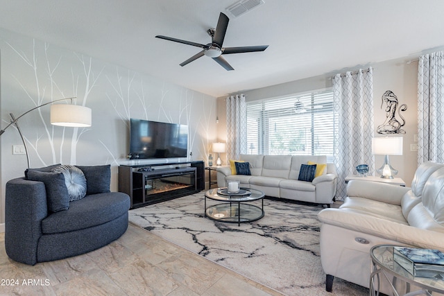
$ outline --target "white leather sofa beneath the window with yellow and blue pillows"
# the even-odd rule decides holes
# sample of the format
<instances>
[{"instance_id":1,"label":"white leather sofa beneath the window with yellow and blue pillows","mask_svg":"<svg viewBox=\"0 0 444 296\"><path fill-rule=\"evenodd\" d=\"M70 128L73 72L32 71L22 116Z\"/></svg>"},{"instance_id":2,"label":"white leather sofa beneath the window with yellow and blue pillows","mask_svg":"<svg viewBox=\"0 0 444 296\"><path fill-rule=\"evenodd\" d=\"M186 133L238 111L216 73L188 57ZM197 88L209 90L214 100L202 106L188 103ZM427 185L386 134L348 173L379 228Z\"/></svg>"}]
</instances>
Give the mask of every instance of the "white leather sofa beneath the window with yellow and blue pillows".
<instances>
[{"instance_id":1,"label":"white leather sofa beneath the window with yellow and blue pillows","mask_svg":"<svg viewBox=\"0 0 444 296\"><path fill-rule=\"evenodd\" d=\"M232 175L230 167L217 168L217 184L227 186L228 180L239 180L241 187L259 189L266 196L317 204L330 204L336 194L336 168L327 164L325 156L309 155L240 155L250 164L251 175ZM327 164L323 175L312 182L298 181L301 164Z\"/></svg>"}]
</instances>

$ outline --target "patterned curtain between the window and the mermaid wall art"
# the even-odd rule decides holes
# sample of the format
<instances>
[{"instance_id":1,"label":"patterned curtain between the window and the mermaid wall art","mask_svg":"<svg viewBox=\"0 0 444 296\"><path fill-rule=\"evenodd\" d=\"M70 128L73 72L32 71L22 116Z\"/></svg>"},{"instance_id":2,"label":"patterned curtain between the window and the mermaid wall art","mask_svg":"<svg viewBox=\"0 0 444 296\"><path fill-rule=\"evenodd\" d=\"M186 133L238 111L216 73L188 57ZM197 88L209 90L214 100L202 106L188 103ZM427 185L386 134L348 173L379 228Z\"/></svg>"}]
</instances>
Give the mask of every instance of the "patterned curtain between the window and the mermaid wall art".
<instances>
[{"instance_id":1,"label":"patterned curtain between the window and the mermaid wall art","mask_svg":"<svg viewBox=\"0 0 444 296\"><path fill-rule=\"evenodd\" d=\"M336 74L333 80L334 112L338 134L334 141L334 164L338 173L336 198L345 198L345 177L356 173L358 164L375 170L372 154L373 69Z\"/></svg>"}]
</instances>

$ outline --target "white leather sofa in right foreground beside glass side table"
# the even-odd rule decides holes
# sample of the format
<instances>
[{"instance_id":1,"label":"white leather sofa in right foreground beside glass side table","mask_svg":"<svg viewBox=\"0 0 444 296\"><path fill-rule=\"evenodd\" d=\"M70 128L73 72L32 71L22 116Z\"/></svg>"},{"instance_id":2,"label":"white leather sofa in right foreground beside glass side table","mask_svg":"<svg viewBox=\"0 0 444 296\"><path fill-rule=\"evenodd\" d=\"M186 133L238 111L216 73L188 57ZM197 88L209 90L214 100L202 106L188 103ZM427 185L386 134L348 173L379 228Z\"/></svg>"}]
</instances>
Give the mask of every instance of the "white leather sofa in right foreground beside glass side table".
<instances>
[{"instance_id":1,"label":"white leather sofa in right foreground beside glass side table","mask_svg":"<svg viewBox=\"0 0 444 296\"><path fill-rule=\"evenodd\" d=\"M334 277L368 288L374 245L444 252L444 164L421 164L411 188L350 181L347 196L339 209L318 214L327 291L332 290ZM381 284L382 293L391 295L388 282Z\"/></svg>"}]
</instances>

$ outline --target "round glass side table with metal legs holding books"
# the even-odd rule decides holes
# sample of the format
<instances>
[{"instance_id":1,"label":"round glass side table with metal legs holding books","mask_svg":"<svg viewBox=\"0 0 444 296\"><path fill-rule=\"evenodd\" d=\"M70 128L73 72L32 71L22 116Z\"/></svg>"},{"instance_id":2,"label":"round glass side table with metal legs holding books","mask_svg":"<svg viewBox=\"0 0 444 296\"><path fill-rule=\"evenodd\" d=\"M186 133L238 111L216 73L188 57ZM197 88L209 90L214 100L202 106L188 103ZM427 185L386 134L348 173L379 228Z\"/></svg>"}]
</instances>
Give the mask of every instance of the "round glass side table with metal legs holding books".
<instances>
[{"instance_id":1,"label":"round glass side table with metal legs holding books","mask_svg":"<svg viewBox=\"0 0 444 296\"><path fill-rule=\"evenodd\" d=\"M373 263L373 272L370 275L370 295L379 295L379 281L382 277L387 279L393 290L393 295L399 296L396 290L396 281L399 279L406 283L406 293L411 295L432 295L432 292L444 293L444 280L429 279L425 277L413 277L398 263L393 261L393 247L395 245L375 245L370 249L370 257ZM393 277L393 279L391 279ZM375 287L375 278L377 286ZM422 290L410 292L410 285L417 286Z\"/></svg>"}]
</instances>

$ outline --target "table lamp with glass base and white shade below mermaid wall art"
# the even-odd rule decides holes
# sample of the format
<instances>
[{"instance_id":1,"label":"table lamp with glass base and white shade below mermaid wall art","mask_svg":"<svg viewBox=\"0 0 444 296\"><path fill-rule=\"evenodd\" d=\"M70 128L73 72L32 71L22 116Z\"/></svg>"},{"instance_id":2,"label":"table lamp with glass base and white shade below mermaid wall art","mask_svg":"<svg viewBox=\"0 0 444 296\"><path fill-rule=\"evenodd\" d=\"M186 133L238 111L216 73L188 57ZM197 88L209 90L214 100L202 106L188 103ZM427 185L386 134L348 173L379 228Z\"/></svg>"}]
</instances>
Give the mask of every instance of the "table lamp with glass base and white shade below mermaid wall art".
<instances>
[{"instance_id":1,"label":"table lamp with glass base and white shade below mermaid wall art","mask_svg":"<svg viewBox=\"0 0 444 296\"><path fill-rule=\"evenodd\" d=\"M376 173L384 179L393 179L398 174L390 164L388 155L402 155L402 137L377 137L372 139L372 153L385 155L384 164L376 170Z\"/></svg>"}]
</instances>

